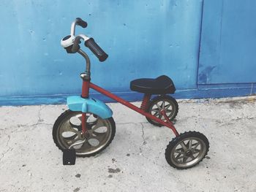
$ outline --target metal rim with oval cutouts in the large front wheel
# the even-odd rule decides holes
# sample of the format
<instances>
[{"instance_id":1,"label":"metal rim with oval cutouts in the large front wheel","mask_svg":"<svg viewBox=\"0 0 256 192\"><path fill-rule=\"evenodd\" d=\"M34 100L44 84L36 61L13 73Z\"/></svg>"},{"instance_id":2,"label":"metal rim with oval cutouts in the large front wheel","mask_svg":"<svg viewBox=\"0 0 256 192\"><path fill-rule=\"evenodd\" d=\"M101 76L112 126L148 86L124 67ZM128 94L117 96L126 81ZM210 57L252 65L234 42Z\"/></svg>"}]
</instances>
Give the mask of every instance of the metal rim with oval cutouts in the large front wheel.
<instances>
[{"instance_id":1,"label":"metal rim with oval cutouts in the large front wheel","mask_svg":"<svg viewBox=\"0 0 256 192\"><path fill-rule=\"evenodd\" d=\"M57 139L61 147L68 148L70 145L86 139L86 142L75 145L73 148L77 155L89 155L108 145L112 134L112 127L108 119L86 113L86 127L88 130L86 136L83 136L81 112L67 115L59 124L57 131Z\"/></svg>"}]
</instances>

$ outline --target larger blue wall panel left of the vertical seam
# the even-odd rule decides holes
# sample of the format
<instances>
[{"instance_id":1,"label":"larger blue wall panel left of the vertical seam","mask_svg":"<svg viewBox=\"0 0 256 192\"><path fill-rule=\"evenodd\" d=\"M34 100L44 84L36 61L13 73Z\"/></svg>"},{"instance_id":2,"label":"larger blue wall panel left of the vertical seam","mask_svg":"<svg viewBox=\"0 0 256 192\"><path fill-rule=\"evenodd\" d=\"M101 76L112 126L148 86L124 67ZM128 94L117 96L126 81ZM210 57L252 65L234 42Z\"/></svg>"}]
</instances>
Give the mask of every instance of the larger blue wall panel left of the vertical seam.
<instances>
[{"instance_id":1,"label":"larger blue wall panel left of the vertical seam","mask_svg":"<svg viewBox=\"0 0 256 192\"><path fill-rule=\"evenodd\" d=\"M179 89L196 88L202 1L0 1L0 96L80 93L80 55L67 54L60 39L76 17L78 28L109 58L91 55L94 83L129 91L129 81L167 74ZM185 11L186 10L186 11ZM3 30L2 30L3 31ZM3 32L2 32L3 33Z\"/></svg>"}]
</instances>

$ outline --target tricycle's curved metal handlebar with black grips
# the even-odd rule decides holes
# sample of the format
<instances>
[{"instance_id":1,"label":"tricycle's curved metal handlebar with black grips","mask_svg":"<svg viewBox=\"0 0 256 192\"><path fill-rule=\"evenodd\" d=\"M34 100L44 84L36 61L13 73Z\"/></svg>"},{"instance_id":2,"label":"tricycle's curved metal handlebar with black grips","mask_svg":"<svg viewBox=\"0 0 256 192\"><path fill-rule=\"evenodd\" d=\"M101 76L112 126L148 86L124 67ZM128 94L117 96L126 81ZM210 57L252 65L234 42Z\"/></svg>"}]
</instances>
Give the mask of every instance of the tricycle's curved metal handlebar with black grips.
<instances>
[{"instance_id":1,"label":"tricycle's curved metal handlebar with black grips","mask_svg":"<svg viewBox=\"0 0 256 192\"><path fill-rule=\"evenodd\" d=\"M81 26L83 28L87 27L86 21L82 20L81 18L76 18L74 22L71 24L71 31L70 31L70 36L75 37L75 26ZM105 61L108 58L108 54L105 53L104 50L102 50L99 45L94 41L93 38L86 37L84 34L79 34L75 37L75 40L73 40L71 52L69 51L68 53L77 53L78 50L80 49L80 39L84 40L84 45L86 47L89 47L92 53L99 58L99 61Z\"/></svg>"}]
</instances>

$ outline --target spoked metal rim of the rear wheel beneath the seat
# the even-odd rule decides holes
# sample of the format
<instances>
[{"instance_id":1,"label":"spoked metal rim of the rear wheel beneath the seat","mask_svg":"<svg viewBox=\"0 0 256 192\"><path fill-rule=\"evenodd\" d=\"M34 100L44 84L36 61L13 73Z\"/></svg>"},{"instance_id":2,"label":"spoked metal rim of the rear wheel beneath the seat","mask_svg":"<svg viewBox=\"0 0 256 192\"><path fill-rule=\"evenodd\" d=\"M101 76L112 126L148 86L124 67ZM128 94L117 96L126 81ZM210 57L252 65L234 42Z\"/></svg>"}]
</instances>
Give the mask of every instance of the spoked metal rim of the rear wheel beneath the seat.
<instances>
[{"instance_id":1,"label":"spoked metal rim of the rear wheel beneath the seat","mask_svg":"<svg viewBox=\"0 0 256 192\"><path fill-rule=\"evenodd\" d=\"M172 119L173 115L175 115L175 112L173 110L174 108L175 106L173 106L173 102L170 102L168 99L162 99L161 101L154 102L154 104L152 104L149 108L149 111L151 112L151 115L154 115L155 117L166 121L161 111L164 110L167 117L169 119Z\"/></svg>"}]
</instances>

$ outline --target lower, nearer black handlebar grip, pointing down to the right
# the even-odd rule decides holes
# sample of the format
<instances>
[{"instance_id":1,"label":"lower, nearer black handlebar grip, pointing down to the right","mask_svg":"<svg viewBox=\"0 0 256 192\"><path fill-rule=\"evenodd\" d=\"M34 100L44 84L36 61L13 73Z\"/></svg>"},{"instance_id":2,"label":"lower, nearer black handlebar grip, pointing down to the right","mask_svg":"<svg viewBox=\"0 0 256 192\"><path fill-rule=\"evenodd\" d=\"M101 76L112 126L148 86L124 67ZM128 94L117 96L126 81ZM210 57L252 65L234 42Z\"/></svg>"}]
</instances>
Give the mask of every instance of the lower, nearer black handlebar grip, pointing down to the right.
<instances>
[{"instance_id":1,"label":"lower, nearer black handlebar grip, pointing down to the right","mask_svg":"<svg viewBox=\"0 0 256 192\"><path fill-rule=\"evenodd\" d=\"M94 42L93 38L88 39L84 45L86 45L86 47L89 47L89 49L91 50L92 53L94 53L94 55L97 56L97 58L99 58L99 61L105 61L108 58L108 54L104 52L104 50L102 50L101 47L99 47L99 45L97 45L96 42Z\"/></svg>"}]
</instances>

